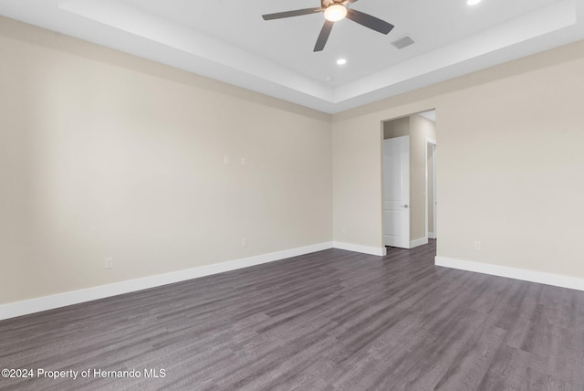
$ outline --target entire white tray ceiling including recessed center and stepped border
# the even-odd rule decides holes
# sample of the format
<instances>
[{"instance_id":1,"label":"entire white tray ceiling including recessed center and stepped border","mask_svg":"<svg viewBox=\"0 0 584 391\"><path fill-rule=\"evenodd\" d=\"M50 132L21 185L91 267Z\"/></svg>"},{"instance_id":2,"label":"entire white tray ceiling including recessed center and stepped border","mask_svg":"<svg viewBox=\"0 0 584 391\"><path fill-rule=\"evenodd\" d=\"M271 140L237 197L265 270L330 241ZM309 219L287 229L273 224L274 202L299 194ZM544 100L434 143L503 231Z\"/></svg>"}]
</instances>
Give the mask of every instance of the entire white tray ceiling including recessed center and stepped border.
<instances>
[{"instance_id":1,"label":"entire white tray ceiling including recessed center and stepped border","mask_svg":"<svg viewBox=\"0 0 584 391\"><path fill-rule=\"evenodd\" d=\"M584 38L584 0L359 0L314 53L319 0L0 0L0 15L335 113ZM410 35L398 50L391 42ZM339 66L338 58L347 64Z\"/></svg>"}]
</instances>

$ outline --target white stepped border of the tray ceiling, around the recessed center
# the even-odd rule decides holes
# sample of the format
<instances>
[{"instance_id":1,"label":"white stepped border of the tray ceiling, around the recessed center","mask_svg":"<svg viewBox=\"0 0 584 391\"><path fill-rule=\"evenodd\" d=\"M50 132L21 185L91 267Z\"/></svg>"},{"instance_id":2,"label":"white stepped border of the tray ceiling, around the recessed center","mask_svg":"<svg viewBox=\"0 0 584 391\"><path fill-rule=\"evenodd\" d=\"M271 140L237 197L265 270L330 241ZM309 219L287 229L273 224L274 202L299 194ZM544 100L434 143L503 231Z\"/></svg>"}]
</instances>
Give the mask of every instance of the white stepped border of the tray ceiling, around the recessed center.
<instances>
[{"instance_id":1,"label":"white stepped border of the tray ceiling, around the recessed center","mask_svg":"<svg viewBox=\"0 0 584 391\"><path fill-rule=\"evenodd\" d=\"M584 0L562 0L339 86L308 78L114 0L19 0L5 16L248 90L337 113L584 38ZM8 3L8 2L3 2ZM42 6L31 12L33 5ZM51 17L41 17L39 13ZM131 15L129 18L128 15ZM79 17L84 21L79 23Z\"/></svg>"}]
</instances>

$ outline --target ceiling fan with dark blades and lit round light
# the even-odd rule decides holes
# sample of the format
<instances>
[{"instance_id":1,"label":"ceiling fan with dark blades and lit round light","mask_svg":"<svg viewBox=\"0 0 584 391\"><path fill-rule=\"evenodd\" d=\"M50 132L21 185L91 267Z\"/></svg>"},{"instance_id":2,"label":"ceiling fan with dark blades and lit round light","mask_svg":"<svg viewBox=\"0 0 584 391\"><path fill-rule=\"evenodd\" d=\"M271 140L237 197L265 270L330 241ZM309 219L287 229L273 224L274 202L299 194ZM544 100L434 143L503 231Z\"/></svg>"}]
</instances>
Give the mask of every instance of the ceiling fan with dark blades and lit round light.
<instances>
[{"instance_id":1,"label":"ceiling fan with dark blades and lit round light","mask_svg":"<svg viewBox=\"0 0 584 391\"><path fill-rule=\"evenodd\" d=\"M381 34L388 34L393 25L381 20L375 16L370 16L363 12L351 9L348 7L349 4L353 4L358 0L320 0L319 8L303 8L294 11L278 12L276 14L267 14L262 17L264 20L282 19L285 17L292 16L303 16L310 14L317 14L319 12L324 12L325 14L325 25L322 26L320 34L318 35L317 44L314 47L314 51L321 51L325 48L327 44L328 36L330 35L330 30L335 22L345 18L345 16L352 20L353 22L359 23L361 26L366 26L371 30L380 32Z\"/></svg>"}]
</instances>

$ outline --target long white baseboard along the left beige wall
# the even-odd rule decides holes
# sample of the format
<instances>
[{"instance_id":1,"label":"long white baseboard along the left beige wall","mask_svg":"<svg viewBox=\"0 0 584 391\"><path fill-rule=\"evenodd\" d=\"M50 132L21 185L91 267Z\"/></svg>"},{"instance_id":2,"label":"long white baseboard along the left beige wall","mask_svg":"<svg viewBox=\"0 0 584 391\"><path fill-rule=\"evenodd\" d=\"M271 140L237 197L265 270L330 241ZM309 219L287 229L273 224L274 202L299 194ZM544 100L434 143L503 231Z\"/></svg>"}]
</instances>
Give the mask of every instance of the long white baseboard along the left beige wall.
<instances>
[{"instance_id":1,"label":"long white baseboard along the left beige wall","mask_svg":"<svg viewBox=\"0 0 584 391\"><path fill-rule=\"evenodd\" d=\"M71 304L78 304L80 302L103 299L123 293L155 288L162 285L172 284L174 282L192 280L199 277L209 276L211 274L222 273L224 271L243 269L249 266L260 265L262 263L272 262L279 259L297 257L299 255L309 254L311 252L328 248L333 248L332 242L318 243L311 246L292 248L244 259L229 260L193 269L173 271L171 273L164 273L137 280L126 280L85 290L68 291L31 300L3 304L0 305L0 320L52 310Z\"/></svg>"}]
</instances>

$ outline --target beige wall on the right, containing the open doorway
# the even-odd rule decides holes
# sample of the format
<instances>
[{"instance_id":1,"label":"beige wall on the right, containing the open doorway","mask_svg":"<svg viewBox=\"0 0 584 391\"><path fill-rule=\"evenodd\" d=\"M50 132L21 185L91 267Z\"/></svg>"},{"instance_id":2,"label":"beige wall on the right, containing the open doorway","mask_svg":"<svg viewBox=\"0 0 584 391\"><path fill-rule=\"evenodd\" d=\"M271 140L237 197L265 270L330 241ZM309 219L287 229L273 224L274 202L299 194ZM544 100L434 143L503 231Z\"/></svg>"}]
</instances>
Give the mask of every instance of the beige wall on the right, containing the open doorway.
<instances>
[{"instance_id":1,"label":"beige wall on the right, containing the open doorway","mask_svg":"<svg viewBox=\"0 0 584 391\"><path fill-rule=\"evenodd\" d=\"M582 101L584 41L333 116L335 239L382 246L381 122L435 108L438 255L584 278Z\"/></svg>"}]
</instances>

